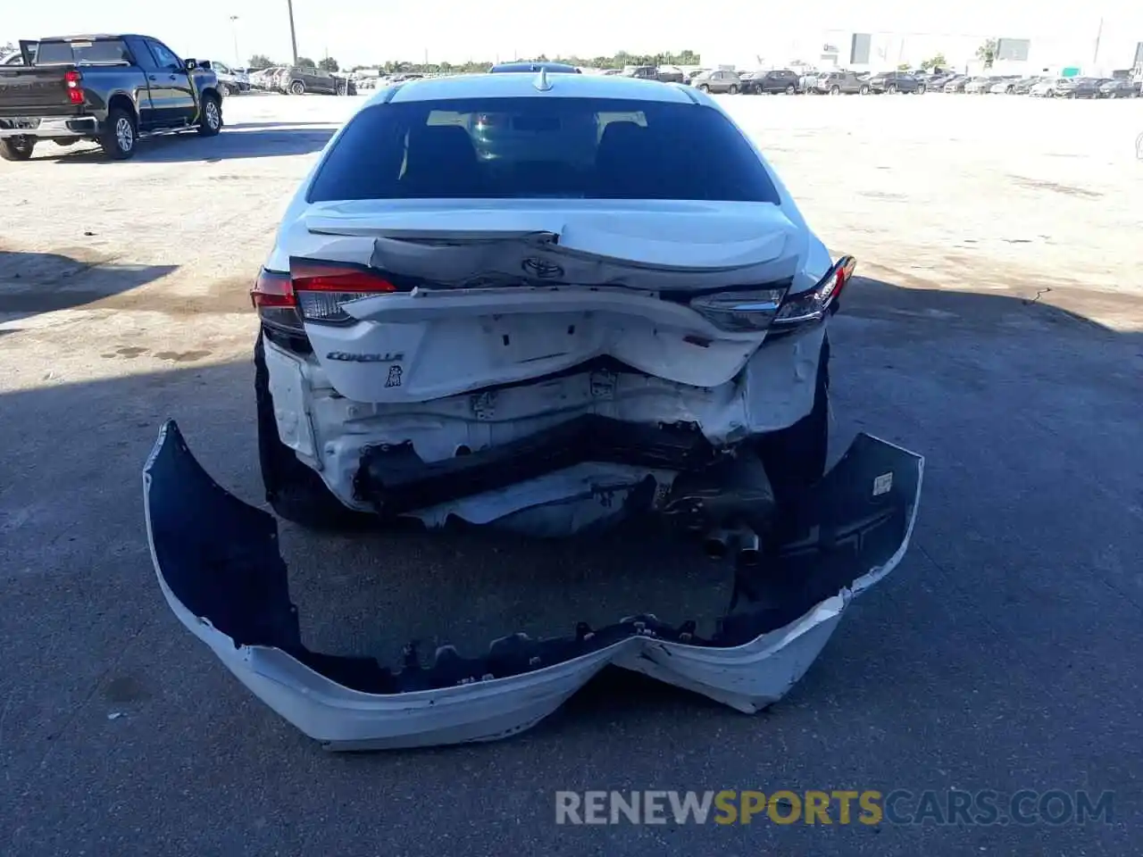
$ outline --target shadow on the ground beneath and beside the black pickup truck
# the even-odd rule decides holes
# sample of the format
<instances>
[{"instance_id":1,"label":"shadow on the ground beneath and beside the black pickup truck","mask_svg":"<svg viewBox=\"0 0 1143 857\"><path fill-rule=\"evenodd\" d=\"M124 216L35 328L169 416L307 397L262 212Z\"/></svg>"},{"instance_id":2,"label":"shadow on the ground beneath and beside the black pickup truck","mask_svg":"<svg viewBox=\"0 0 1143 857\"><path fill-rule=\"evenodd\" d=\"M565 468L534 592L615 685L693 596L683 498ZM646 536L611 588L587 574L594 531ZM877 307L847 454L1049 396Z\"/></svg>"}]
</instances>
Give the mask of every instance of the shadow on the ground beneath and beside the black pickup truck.
<instances>
[{"instance_id":1,"label":"shadow on the ground beneath and beside the black pickup truck","mask_svg":"<svg viewBox=\"0 0 1143 857\"><path fill-rule=\"evenodd\" d=\"M298 127L307 123L290 122L255 125L246 128L224 128L217 137L200 137L191 131L165 137L141 139L135 155L129 161L107 158L95 144L78 143L71 149L50 154L37 154L38 160L51 160L61 165L75 163L176 163L191 161L239 160L242 158L281 158L296 154L312 154L334 136L336 122L321 123L322 128Z\"/></svg>"}]
</instances>

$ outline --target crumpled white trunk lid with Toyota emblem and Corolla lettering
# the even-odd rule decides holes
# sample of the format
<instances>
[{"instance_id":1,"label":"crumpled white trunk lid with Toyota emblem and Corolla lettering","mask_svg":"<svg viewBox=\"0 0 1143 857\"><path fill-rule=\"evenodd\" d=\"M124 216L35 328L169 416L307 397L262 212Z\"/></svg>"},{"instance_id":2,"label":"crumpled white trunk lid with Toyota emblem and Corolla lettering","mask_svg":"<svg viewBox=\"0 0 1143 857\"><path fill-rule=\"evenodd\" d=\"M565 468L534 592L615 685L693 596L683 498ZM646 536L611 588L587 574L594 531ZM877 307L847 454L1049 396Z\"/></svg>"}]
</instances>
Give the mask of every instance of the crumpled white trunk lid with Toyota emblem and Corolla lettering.
<instances>
[{"instance_id":1,"label":"crumpled white trunk lid with Toyota emblem and Corolla lettering","mask_svg":"<svg viewBox=\"0 0 1143 857\"><path fill-rule=\"evenodd\" d=\"M719 329L688 302L784 294L804 230L769 203L592 202L311 208L291 262L360 265L399 286L343 304L359 323L306 322L330 383L357 401L427 401L600 357L694 386L737 375L765 331Z\"/></svg>"}]
</instances>

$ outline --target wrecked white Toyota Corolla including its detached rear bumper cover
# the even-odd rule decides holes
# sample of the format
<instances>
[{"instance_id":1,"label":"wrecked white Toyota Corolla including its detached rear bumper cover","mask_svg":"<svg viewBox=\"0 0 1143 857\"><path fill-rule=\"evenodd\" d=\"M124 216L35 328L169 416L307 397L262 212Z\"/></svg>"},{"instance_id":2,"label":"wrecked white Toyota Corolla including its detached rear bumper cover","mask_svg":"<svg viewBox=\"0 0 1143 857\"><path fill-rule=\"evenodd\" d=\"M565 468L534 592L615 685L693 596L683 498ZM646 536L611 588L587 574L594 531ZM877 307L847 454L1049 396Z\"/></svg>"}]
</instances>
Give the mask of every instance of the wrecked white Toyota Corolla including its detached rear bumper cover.
<instances>
[{"instance_id":1,"label":"wrecked white Toyota Corolla including its detached rear bumper cover","mask_svg":"<svg viewBox=\"0 0 1143 857\"><path fill-rule=\"evenodd\" d=\"M312 652L277 523L173 421L144 470L168 602L337 748L502 737L607 664L745 712L904 554L922 459L858 435L825 474L832 258L762 154L681 85L531 73L378 91L258 274L266 500L309 528L453 521L563 537L655 518L727 558L718 631L655 616L487 652ZM696 551L697 553L697 551Z\"/></svg>"}]
</instances>

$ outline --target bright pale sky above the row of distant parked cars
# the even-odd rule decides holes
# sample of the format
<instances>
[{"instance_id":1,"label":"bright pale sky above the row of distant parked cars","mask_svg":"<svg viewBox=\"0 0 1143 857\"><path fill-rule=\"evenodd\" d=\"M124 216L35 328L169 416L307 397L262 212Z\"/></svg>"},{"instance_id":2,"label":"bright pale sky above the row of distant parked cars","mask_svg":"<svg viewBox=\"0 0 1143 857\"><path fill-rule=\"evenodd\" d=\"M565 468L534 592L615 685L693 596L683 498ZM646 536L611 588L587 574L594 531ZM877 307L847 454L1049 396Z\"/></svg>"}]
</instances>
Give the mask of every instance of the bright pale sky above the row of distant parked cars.
<instances>
[{"instance_id":1,"label":"bright pale sky above the row of distant parked cars","mask_svg":"<svg viewBox=\"0 0 1143 857\"><path fill-rule=\"evenodd\" d=\"M0 0L0 42L82 32L143 32L183 56L288 61L286 0ZM705 13L704 9L710 9ZM179 17L185 13L185 17ZM231 22L231 16L238 19ZM751 29L981 33L1010 38L1105 29L1143 40L1141 0L813 0L729 6L693 0L294 0L298 53L343 65L464 62L520 55L710 49Z\"/></svg>"}]
</instances>

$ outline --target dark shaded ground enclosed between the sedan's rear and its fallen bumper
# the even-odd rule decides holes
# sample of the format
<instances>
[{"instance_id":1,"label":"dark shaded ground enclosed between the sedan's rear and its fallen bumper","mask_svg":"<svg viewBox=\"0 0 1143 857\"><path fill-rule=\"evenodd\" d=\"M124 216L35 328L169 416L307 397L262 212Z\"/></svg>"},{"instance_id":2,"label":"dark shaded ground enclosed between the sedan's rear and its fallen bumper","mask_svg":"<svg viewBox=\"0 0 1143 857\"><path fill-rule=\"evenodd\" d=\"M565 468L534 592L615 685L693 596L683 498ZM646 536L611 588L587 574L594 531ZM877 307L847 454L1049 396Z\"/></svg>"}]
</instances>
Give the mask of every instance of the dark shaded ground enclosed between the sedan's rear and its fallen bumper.
<instances>
[{"instance_id":1,"label":"dark shaded ground enclosed between the sedan's rear and its fallen bumper","mask_svg":"<svg viewBox=\"0 0 1143 857\"><path fill-rule=\"evenodd\" d=\"M410 641L429 666L438 646L475 657L514 632L567 636L581 622L601 627L647 612L672 625L693 619L709 636L734 591L733 559L709 559L697 536L664 537L653 522L559 542L475 529L342 538L279 528L305 644L382 663L400 663ZM333 571L329 554L351 561Z\"/></svg>"}]
</instances>

